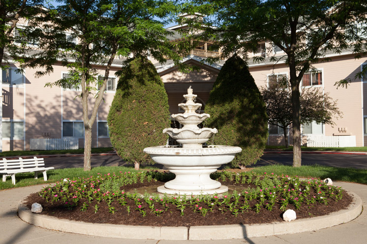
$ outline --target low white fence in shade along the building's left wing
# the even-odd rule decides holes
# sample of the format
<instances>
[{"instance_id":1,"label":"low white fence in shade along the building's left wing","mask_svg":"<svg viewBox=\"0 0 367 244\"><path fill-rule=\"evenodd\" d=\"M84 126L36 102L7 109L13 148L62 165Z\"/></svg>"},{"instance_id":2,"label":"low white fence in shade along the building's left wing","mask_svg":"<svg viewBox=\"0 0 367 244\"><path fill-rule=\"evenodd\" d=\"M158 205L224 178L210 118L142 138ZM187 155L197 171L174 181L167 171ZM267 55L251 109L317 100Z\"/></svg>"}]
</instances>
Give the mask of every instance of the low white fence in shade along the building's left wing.
<instances>
[{"instance_id":1,"label":"low white fence in shade along the building's left wing","mask_svg":"<svg viewBox=\"0 0 367 244\"><path fill-rule=\"evenodd\" d=\"M68 150L79 148L79 138L32 138L31 150Z\"/></svg>"}]
</instances>

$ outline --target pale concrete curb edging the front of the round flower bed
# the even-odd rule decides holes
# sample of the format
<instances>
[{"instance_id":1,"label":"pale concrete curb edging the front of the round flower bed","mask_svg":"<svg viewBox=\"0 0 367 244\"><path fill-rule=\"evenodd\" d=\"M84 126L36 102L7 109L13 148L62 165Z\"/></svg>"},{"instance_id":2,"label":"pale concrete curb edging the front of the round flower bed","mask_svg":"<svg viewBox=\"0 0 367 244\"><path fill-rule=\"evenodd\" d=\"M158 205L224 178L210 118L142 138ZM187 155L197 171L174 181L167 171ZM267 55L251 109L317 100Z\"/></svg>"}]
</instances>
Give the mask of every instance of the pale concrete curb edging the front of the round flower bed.
<instances>
[{"instance_id":1,"label":"pale concrete curb edging the front of the round flower bed","mask_svg":"<svg viewBox=\"0 0 367 244\"><path fill-rule=\"evenodd\" d=\"M270 224L253 225L214 225L191 227L153 227L131 226L115 224L95 224L74 220L58 219L56 217L32 213L18 203L19 217L35 226L46 229L84 234L99 237L113 237L125 239L154 239L154 240L222 240L244 239L249 237L295 234L315 231L349 222L362 212L362 200L354 192L348 191L353 202L348 209L340 210L324 216L306 219L296 219L291 222L275 222Z\"/></svg>"}]
</instances>

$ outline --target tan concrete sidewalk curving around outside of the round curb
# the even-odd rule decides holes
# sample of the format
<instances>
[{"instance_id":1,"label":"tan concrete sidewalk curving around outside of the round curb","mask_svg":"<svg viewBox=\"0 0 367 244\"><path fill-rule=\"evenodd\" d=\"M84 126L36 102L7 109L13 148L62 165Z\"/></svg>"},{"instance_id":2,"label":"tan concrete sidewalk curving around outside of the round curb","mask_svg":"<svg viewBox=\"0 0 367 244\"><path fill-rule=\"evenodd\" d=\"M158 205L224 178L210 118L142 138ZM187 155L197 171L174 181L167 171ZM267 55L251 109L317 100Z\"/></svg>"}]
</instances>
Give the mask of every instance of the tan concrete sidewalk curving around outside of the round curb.
<instances>
[{"instance_id":1,"label":"tan concrete sidewalk curving around outside of the round curb","mask_svg":"<svg viewBox=\"0 0 367 244\"><path fill-rule=\"evenodd\" d=\"M367 185L355 183L334 183L337 186L342 186L346 190L351 190L359 195L362 199L364 209L367 209ZM353 242L353 244L367 243L367 211L364 211L358 218L353 221L338 226L299 234L277 235L269 237L256 237L247 239L232 239L232 240L216 240L216 241L158 241L158 240L132 240L132 239L116 239L85 236L79 234L64 233L35 227L28 224L17 216L17 204L25 196L31 192L41 189L43 185L14 188L10 190L0 191L0 243L48 243L48 244L63 244L63 243L126 243L126 244L206 244L206 243L231 243L231 244L309 244L309 243L336 243L344 244Z\"/></svg>"}]
</instances>

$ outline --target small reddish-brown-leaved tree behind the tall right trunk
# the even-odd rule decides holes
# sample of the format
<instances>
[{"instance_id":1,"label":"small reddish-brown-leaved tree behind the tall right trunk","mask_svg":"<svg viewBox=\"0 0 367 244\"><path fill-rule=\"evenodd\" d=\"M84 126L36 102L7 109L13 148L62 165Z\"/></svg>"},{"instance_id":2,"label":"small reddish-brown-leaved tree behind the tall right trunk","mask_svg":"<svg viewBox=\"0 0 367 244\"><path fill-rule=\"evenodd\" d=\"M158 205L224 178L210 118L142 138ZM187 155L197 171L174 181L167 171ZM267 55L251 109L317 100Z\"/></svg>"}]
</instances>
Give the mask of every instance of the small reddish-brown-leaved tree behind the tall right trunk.
<instances>
[{"instance_id":1,"label":"small reddish-brown-leaved tree behind the tall right trunk","mask_svg":"<svg viewBox=\"0 0 367 244\"><path fill-rule=\"evenodd\" d=\"M292 91L290 84L284 83L270 84L262 87L260 92L266 103L268 123L283 129L285 147L288 148L287 131L292 124ZM318 88L306 88L302 90L300 96L301 103L301 123L324 123L335 125L335 117L341 117L341 112L329 93L323 94Z\"/></svg>"}]
</instances>

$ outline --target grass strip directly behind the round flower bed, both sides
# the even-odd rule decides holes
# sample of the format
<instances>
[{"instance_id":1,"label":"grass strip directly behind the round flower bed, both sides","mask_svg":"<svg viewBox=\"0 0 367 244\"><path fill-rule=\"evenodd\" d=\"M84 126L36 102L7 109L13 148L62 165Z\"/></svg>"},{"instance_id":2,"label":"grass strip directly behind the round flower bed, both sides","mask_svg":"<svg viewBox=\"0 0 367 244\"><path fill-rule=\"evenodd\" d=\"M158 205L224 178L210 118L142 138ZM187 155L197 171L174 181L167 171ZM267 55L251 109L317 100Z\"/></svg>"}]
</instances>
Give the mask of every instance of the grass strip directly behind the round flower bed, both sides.
<instances>
[{"instance_id":1,"label":"grass strip directly behind the round flower bed, both sides","mask_svg":"<svg viewBox=\"0 0 367 244\"><path fill-rule=\"evenodd\" d=\"M144 167L142 170L155 170L153 166ZM0 182L0 190L14 188L14 187L22 187L29 186L35 184L43 184L43 183L54 183L61 181L61 179L69 178L76 179L80 178L88 178L91 176L97 176L97 173L107 174L107 173L118 173L118 172L136 172L133 167L112 167L112 166L102 166L92 168L91 171L84 171L83 168L66 168L66 169L55 169L47 171L48 181L43 181L42 174L39 174L39 178L37 180L34 179L34 173L22 173L16 174L15 186L11 183L10 177L7 177L6 182ZM331 178L333 181L344 181L344 182L354 182L354 183L362 183L367 184L367 170L362 169L352 169L352 168L336 168L336 167L328 167L328 166L302 166L300 168L293 168L292 166L284 166L284 165L272 165L272 166L262 166L262 167L254 167L249 168L249 171L253 171L255 173L267 174L274 173L276 175L289 175L289 176L298 176L303 178Z\"/></svg>"}]
</instances>

